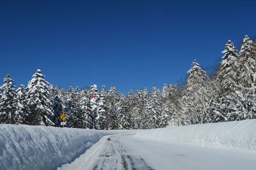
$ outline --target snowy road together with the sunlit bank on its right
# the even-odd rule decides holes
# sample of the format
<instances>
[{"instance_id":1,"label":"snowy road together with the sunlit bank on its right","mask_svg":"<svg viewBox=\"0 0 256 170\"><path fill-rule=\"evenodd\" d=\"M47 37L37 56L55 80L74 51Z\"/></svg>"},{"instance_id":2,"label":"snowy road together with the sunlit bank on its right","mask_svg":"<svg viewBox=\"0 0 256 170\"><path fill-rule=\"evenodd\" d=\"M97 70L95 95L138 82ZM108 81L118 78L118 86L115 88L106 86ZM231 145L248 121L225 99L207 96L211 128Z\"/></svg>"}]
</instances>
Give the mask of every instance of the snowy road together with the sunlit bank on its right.
<instances>
[{"instance_id":1,"label":"snowy road together with the sunlit bank on its right","mask_svg":"<svg viewBox=\"0 0 256 170\"><path fill-rule=\"evenodd\" d=\"M58 170L254 170L255 125L255 120L244 120L104 136Z\"/></svg>"}]
</instances>

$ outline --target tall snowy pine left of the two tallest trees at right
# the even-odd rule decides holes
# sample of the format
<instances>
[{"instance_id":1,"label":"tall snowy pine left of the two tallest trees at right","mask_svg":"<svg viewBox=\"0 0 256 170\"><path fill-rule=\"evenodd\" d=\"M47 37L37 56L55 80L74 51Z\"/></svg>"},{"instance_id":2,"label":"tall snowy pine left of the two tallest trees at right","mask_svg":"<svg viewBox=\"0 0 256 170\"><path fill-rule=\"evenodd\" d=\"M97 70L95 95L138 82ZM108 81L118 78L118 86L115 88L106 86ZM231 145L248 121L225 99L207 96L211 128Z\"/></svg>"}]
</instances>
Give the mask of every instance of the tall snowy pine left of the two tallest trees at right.
<instances>
[{"instance_id":1,"label":"tall snowy pine left of the two tallest trees at right","mask_svg":"<svg viewBox=\"0 0 256 170\"><path fill-rule=\"evenodd\" d=\"M187 104L186 113L191 118L191 124L202 124L207 121L208 84L207 74L195 61L188 71L188 79L184 94L184 101Z\"/></svg>"}]
</instances>

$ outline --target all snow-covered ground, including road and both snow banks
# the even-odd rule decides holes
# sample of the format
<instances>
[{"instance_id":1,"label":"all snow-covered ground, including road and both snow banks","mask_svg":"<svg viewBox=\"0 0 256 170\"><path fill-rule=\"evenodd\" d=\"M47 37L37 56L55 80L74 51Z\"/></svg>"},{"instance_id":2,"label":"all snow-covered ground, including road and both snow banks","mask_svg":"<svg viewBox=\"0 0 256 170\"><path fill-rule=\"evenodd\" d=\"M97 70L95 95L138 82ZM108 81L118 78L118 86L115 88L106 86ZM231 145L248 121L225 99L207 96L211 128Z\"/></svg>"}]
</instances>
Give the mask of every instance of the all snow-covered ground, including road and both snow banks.
<instances>
[{"instance_id":1,"label":"all snow-covered ground, including road and both snow banks","mask_svg":"<svg viewBox=\"0 0 256 170\"><path fill-rule=\"evenodd\" d=\"M0 169L255 169L255 129L256 120L139 131L0 125Z\"/></svg>"}]
</instances>

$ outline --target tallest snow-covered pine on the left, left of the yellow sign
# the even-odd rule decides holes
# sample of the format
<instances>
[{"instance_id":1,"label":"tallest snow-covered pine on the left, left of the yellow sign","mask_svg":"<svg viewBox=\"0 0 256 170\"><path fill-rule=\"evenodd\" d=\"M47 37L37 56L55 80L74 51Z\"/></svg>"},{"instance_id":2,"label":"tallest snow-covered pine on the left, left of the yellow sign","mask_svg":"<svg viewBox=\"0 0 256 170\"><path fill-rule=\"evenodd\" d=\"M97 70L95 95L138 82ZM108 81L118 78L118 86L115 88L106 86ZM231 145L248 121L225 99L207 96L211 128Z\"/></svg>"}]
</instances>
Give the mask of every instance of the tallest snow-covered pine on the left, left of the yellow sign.
<instances>
[{"instance_id":1,"label":"tallest snow-covered pine on the left, left of the yellow sign","mask_svg":"<svg viewBox=\"0 0 256 170\"><path fill-rule=\"evenodd\" d=\"M30 114L26 120L31 125L54 125L49 83L38 69L28 83L28 106Z\"/></svg>"}]
</instances>

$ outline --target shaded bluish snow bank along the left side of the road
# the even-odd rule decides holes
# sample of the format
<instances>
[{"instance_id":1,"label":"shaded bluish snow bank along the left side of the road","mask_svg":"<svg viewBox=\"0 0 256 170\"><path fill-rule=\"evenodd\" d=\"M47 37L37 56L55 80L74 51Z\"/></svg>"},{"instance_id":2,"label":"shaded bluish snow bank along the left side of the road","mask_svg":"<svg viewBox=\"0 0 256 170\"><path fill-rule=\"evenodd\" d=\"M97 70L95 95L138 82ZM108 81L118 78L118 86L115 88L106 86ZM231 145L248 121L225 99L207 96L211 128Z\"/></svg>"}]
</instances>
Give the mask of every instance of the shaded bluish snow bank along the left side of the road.
<instances>
[{"instance_id":1,"label":"shaded bluish snow bank along the left side of the road","mask_svg":"<svg viewBox=\"0 0 256 170\"><path fill-rule=\"evenodd\" d=\"M1 124L0 169L56 169L113 132Z\"/></svg>"}]
</instances>

